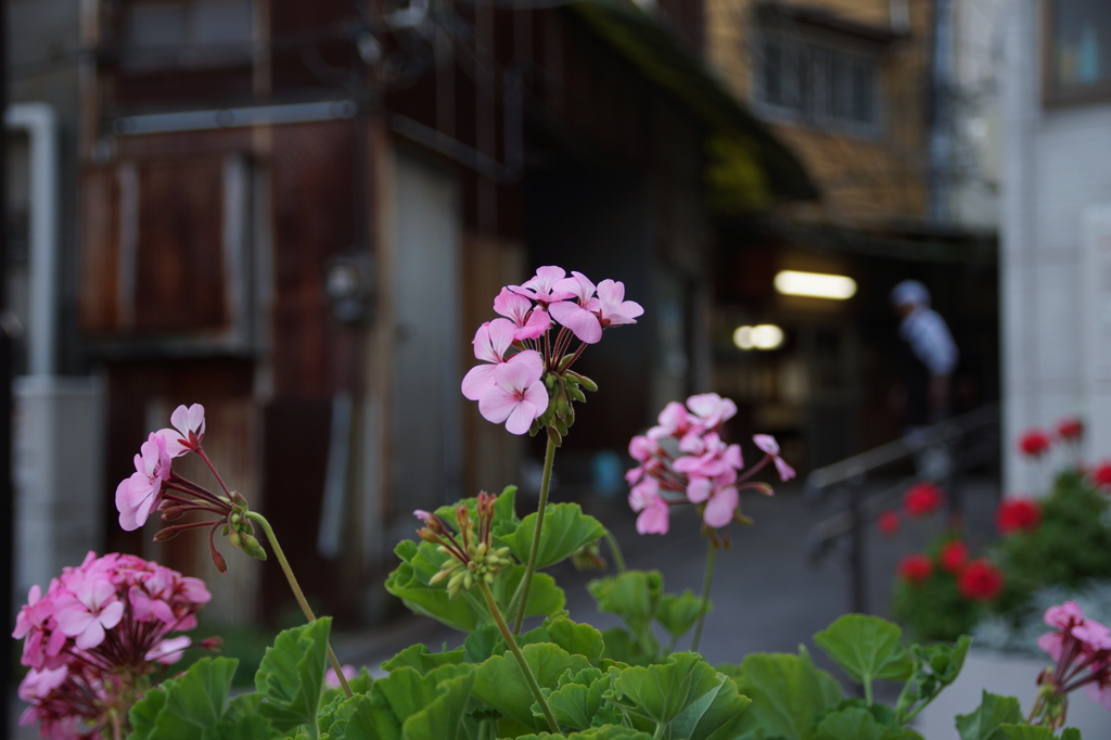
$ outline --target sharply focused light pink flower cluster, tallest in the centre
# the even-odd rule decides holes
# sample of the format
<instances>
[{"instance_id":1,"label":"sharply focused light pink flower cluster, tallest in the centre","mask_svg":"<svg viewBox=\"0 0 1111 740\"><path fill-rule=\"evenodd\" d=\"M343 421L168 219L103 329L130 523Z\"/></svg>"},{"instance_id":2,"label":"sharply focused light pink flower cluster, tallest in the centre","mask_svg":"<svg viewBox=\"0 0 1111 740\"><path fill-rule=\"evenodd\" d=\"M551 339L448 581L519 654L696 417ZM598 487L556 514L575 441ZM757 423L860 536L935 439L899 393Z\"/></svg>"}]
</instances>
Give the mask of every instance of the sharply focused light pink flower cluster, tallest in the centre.
<instances>
[{"instance_id":1,"label":"sharply focused light pink flower cluster, tallest in the centre","mask_svg":"<svg viewBox=\"0 0 1111 740\"><path fill-rule=\"evenodd\" d=\"M467 373L463 396L479 402L482 417L506 423L523 434L549 407L546 372L565 371L588 344L602 338L602 330L635 323L644 312L639 303L624 300L624 284L602 280L597 286L581 272L542 267L520 286L506 286L493 301L501 319L488 321L474 334L474 357L484 362ZM553 320L561 324L554 341L549 334ZM563 362L572 338L580 342Z\"/></svg>"}]
</instances>

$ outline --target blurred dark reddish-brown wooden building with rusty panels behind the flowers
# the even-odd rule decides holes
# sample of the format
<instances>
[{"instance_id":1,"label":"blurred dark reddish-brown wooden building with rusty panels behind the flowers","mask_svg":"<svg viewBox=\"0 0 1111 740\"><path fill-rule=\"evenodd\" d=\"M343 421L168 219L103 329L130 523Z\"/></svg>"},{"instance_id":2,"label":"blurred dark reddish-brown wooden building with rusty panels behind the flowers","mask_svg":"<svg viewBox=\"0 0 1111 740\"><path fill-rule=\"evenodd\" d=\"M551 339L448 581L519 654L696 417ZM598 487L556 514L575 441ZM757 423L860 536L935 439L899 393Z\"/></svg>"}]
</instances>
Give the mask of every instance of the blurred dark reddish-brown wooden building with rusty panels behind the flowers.
<instances>
[{"instance_id":1,"label":"blurred dark reddish-brown wooden building with rusty panels behind the flowers","mask_svg":"<svg viewBox=\"0 0 1111 740\"><path fill-rule=\"evenodd\" d=\"M707 168L751 207L814 194L702 69L697 0L57 9L79 103L60 371L103 379L106 544L206 576L230 621L288 604L277 563L226 552L220 578L202 538L114 523L177 404L204 404L206 449L311 597L373 618L410 512L516 483L531 454L459 391L501 286L556 263L645 307L584 358L603 391L571 438L622 450L710 382Z\"/></svg>"}]
</instances>

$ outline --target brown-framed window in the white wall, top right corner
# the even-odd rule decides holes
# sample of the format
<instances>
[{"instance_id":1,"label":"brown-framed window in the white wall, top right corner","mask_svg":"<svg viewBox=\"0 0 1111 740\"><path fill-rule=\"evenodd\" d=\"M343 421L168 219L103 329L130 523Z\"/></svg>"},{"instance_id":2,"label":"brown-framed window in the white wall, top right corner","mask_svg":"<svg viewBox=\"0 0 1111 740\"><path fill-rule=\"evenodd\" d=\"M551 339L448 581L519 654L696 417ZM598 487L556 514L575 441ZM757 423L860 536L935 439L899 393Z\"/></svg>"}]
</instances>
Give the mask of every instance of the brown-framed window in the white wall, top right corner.
<instances>
[{"instance_id":1,"label":"brown-framed window in the white wall, top right corner","mask_svg":"<svg viewBox=\"0 0 1111 740\"><path fill-rule=\"evenodd\" d=\"M1111 2L1047 0L1047 98L1111 96Z\"/></svg>"}]
</instances>

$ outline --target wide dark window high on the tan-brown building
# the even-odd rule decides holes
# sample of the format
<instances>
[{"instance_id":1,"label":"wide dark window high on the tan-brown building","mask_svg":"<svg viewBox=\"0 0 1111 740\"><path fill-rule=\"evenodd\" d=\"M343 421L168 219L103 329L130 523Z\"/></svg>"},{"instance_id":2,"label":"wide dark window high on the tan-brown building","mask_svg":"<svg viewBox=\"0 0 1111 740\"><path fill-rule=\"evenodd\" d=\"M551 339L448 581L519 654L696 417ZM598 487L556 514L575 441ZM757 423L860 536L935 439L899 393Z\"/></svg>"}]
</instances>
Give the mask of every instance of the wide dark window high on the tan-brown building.
<instances>
[{"instance_id":1,"label":"wide dark window high on the tan-brown building","mask_svg":"<svg viewBox=\"0 0 1111 740\"><path fill-rule=\"evenodd\" d=\"M877 58L769 37L761 61L758 94L773 112L819 124L878 127Z\"/></svg>"}]
</instances>

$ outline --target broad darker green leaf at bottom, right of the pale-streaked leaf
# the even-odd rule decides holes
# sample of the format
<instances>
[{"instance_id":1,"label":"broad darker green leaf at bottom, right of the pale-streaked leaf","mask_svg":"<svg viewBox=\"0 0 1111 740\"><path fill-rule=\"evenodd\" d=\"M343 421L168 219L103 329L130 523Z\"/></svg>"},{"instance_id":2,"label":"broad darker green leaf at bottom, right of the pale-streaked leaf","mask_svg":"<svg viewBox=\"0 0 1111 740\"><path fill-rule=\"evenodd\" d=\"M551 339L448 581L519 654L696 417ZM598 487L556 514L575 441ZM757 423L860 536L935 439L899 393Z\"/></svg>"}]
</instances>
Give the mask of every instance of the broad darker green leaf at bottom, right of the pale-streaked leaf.
<instances>
[{"instance_id":1,"label":"broad darker green leaf at bottom, right of the pale-streaked leaf","mask_svg":"<svg viewBox=\"0 0 1111 740\"><path fill-rule=\"evenodd\" d=\"M740 666L719 666L718 670L731 676L738 691L752 700L740 729L762 728L768 738L812 737L818 717L841 700L832 677L815 669L809 657L753 653Z\"/></svg>"}]
</instances>

